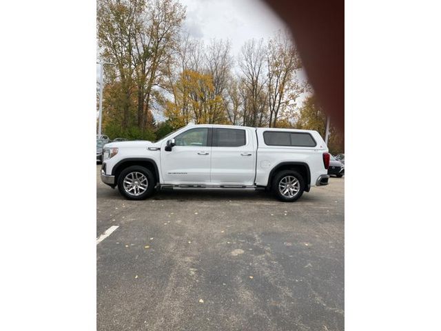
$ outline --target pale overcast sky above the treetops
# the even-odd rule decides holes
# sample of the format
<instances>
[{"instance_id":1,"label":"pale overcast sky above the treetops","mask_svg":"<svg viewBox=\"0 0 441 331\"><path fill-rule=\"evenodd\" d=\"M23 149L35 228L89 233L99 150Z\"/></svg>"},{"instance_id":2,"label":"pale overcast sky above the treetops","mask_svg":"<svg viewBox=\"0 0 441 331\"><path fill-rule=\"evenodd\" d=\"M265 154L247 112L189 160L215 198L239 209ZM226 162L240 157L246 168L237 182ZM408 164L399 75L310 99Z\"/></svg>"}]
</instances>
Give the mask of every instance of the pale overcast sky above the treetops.
<instances>
[{"instance_id":1,"label":"pale overcast sky above the treetops","mask_svg":"<svg viewBox=\"0 0 441 331\"><path fill-rule=\"evenodd\" d=\"M187 7L184 30L194 38L229 39L233 55L248 39L273 36L285 24L260 0L181 0Z\"/></svg>"}]
</instances>

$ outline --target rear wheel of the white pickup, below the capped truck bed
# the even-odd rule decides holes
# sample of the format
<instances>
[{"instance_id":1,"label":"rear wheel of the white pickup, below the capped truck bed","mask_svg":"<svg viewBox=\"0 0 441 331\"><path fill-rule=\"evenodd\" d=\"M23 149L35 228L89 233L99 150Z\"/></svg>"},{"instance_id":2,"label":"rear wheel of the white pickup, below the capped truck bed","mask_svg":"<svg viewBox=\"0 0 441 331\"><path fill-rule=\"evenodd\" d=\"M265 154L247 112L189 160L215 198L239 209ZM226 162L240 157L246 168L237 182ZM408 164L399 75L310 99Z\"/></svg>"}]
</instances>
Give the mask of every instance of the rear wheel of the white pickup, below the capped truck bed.
<instances>
[{"instance_id":1,"label":"rear wheel of the white pickup, below the capped truck bed","mask_svg":"<svg viewBox=\"0 0 441 331\"><path fill-rule=\"evenodd\" d=\"M294 170L283 170L274 176L271 188L283 202L294 202L305 190L305 179Z\"/></svg>"}]
</instances>

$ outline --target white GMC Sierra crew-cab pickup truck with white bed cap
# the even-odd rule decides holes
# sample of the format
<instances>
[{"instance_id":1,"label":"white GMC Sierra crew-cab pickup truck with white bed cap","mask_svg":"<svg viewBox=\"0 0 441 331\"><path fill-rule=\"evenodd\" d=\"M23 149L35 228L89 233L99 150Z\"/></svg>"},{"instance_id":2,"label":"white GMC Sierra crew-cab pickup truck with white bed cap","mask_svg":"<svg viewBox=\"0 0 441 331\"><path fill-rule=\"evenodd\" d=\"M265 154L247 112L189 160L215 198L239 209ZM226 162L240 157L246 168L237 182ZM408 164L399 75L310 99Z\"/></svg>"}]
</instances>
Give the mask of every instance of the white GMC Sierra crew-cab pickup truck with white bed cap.
<instances>
[{"instance_id":1,"label":"white GMC Sierra crew-cab pickup truck with white bed cap","mask_svg":"<svg viewBox=\"0 0 441 331\"><path fill-rule=\"evenodd\" d=\"M163 139L107 143L101 180L127 199L155 188L254 188L296 201L327 185L328 148L310 130L189 125Z\"/></svg>"}]
</instances>

